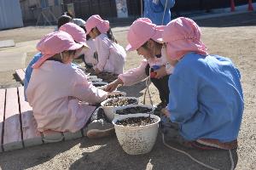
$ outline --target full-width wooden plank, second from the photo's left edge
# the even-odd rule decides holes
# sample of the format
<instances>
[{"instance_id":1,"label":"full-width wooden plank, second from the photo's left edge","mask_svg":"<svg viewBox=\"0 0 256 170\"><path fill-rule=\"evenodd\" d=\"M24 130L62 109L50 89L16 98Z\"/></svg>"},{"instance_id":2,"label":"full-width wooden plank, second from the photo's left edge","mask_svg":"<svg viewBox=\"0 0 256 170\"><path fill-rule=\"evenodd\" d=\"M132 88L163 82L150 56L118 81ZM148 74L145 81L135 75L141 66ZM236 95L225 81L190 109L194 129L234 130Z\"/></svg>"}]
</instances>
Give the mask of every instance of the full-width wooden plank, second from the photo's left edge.
<instances>
[{"instance_id":1,"label":"full-width wooden plank, second from the photo's left edge","mask_svg":"<svg viewBox=\"0 0 256 170\"><path fill-rule=\"evenodd\" d=\"M16 150L22 148L20 132L20 111L17 88L6 89L6 105L3 133L3 149Z\"/></svg>"}]
</instances>

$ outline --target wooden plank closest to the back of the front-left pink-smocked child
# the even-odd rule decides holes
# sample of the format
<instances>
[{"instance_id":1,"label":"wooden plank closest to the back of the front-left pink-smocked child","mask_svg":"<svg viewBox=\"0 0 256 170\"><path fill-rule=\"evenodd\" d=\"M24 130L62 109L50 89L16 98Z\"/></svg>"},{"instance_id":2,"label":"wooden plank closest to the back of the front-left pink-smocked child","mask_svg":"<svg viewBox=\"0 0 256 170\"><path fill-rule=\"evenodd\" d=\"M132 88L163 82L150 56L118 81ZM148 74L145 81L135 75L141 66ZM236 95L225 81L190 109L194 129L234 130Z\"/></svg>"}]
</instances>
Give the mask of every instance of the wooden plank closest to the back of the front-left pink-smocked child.
<instances>
[{"instance_id":1,"label":"wooden plank closest to the back of the front-left pink-smocked child","mask_svg":"<svg viewBox=\"0 0 256 170\"><path fill-rule=\"evenodd\" d=\"M41 133L38 131L38 124L33 116L32 107L25 101L24 88L19 87L20 114L25 147L43 144Z\"/></svg>"}]
</instances>

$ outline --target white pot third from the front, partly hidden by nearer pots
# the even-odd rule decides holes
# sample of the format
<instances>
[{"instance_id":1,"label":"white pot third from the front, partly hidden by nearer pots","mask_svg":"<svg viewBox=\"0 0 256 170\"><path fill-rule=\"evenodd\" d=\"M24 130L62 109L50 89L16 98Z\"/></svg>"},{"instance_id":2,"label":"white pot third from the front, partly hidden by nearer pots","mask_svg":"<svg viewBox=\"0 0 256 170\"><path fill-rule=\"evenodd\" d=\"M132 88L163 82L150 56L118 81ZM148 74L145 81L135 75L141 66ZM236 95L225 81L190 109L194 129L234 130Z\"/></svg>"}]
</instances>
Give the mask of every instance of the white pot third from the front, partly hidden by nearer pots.
<instances>
[{"instance_id":1,"label":"white pot third from the front, partly hidden by nearer pots","mask_svg":"<svg viewBox=\"0 0 256 170\"><path fill-rule=\"evenodd\" d=\"M109 101L117 101L118 99L136 99L137 101L134 104L131 105L137 105L138 104L138 98L134 98L134 97L119 97L119 98L113 98L113 99L106 99L104 101L102 101L101 105L102 105L102 109L105 112L105 115L108 117L109 121L113 120L114 117L114 109L115 108L119 108L121 106L105 106L106 103L108 103Z\"/></svg>"}]
</instances>

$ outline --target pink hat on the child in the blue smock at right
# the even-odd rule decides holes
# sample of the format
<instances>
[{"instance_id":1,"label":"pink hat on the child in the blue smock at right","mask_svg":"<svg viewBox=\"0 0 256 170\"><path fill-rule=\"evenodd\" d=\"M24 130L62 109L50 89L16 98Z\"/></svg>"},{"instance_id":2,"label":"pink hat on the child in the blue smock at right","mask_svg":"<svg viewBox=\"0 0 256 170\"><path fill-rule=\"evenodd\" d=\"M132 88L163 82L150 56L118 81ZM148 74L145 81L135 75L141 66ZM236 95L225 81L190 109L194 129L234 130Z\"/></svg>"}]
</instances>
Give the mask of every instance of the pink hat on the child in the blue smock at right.
<instances>
[{"instance_id":1,"label":"pink hat on the child in the blue smock at right","mask_svg":"<svg viewBox=\"0 0 256 170\"><path fill-rule=\"evenodd\" d=\"M207 48L200 41L201 29L194 20L179 17L165 26L163 39L171 59L181 59L184 54L195 52L207 55Z\"/></svg>"}]
</instances>

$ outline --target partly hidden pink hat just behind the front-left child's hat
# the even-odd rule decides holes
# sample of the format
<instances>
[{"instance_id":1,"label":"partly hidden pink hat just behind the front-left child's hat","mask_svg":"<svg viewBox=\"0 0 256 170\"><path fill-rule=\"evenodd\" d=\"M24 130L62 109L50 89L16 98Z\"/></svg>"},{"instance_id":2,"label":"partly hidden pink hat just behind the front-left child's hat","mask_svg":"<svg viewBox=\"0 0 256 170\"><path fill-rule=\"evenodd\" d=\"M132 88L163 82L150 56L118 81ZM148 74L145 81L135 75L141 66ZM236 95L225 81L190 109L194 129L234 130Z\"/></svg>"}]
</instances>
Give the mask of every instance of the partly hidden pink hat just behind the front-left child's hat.
<instances>
[{"instance_id":1,"label":"partly hidden pink hat just behind the front-left child's hat","mask_svg":"<svg viewBox=\"0 0 256 170\"><path fill-rule=\"evenodd\" d=\"M60 27L60 31L66 31L71 37L73 37L73 40L83 44L85 47L88 48L86 44L86 34L83 28L80 26L74 24L74 23L67 23Z\"/></svg>"}]
</instances>

